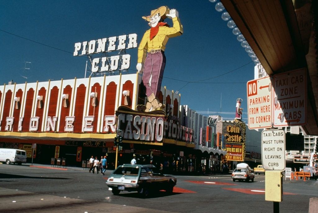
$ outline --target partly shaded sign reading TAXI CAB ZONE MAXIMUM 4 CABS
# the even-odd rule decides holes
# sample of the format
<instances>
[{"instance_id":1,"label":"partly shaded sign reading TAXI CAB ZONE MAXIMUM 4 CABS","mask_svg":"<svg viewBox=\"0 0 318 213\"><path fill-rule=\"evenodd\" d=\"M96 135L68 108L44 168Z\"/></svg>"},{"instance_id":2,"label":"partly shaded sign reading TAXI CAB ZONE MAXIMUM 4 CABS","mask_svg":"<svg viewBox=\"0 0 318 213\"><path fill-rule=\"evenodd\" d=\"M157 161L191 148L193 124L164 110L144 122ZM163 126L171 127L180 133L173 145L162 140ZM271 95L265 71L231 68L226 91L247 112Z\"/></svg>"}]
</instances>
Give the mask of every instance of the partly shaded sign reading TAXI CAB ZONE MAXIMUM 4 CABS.
<instances>
[{"instance_id":1,"label":"partly shaded sign reading TAXI CAB ZONE MAXIMUM 4 CABS","mask_svg":"<svg viewBox=\"0 0 318 213\"><path fill-rule=\"evenodd\" d=\"M273 77L274 127L307 124L307 70L299 69Z\"/></svg>"}]
</instances>

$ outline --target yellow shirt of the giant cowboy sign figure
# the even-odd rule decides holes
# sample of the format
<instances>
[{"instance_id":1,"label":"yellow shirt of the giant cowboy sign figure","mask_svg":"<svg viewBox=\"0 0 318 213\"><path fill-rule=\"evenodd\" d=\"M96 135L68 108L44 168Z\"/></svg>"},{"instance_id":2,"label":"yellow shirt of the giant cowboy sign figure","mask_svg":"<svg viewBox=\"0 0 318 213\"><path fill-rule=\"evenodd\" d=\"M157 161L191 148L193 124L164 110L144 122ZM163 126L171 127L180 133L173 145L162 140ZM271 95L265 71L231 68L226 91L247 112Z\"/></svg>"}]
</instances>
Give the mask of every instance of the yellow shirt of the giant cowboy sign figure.
<instances>
[{"instance_id":1,"label":"yellow shirt of the giant cowboy sign figure","mask_svg":"<svg viewBox=\"0 0 318 213\"><path fill-rule=\"evenodd\" d=\"M172 22L173 27L159 26L159 31L152 40L150 40L150 29L145 32L138 47L138 63L142 63L144 50L147 52L151 50L164 51L169 38L179 36L183 33L183 27L179 18L172 18Z\"/></svg>"}]
</instances>

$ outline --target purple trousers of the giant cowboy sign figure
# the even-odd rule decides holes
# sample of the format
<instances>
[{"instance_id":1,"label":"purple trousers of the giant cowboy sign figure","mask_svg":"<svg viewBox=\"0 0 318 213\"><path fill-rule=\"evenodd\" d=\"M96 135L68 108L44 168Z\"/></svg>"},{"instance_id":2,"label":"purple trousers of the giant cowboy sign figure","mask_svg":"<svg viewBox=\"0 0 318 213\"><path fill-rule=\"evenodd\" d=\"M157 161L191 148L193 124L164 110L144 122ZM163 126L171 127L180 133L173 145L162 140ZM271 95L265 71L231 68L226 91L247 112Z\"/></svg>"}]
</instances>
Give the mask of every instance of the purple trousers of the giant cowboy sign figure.
<instances>
[{"instance_id":1,"label":"purple trousers of the giant cowboy sign figure","mask_svg":"<svg viewBox=\"0 0 318 213\"><path fill-rule=\"evenodd\" d=\"M149 97L154 93L156 97L159 95L163 71L166 66L166 56L163 51L154 54L148 53L145 60L142 82L146 87L146 95ZM149 79L151 77L151 82Z\"/></svg>"}]
</instances>

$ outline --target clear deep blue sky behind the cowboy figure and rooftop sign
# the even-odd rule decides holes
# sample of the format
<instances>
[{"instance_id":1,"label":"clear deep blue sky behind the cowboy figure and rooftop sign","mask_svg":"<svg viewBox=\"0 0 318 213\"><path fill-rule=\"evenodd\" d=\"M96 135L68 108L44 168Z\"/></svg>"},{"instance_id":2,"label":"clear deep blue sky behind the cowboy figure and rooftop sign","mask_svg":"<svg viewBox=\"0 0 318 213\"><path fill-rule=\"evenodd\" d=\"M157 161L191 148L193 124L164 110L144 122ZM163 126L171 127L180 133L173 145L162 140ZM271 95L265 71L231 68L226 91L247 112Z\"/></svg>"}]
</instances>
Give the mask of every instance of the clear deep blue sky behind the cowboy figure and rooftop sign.
<instances>
[{"instance_id":1,"label":"clear deep blue sky behind the cowboy figure and rooftop sign","mask_svg":"<svg viewBox=\"0 0 318 213\"><path fill-rule=\"evenodd\" d=\"M181 104L197 111L219 112L222 106L222 112L234 113L236 99L240 97L246 113L246 82L254 78L254 62L222 20L226 10L216 11L215 4L209 0L2 0L0 84L11 79L24 83L84 78L86 58L68 53L73 53L75 43L132 33L138 35L139 43L149 29L142 16L167 5L179 11L184 33L170 38L166 45L162 86L179 90ZM172 26L171 19L165 22ZM137 48L127 50L127 54L131 55L128 73L135 73ZM201 83L187 83L194 81ZM220 115L234 118L231 114Z\"/></svg>"}]
</instances>

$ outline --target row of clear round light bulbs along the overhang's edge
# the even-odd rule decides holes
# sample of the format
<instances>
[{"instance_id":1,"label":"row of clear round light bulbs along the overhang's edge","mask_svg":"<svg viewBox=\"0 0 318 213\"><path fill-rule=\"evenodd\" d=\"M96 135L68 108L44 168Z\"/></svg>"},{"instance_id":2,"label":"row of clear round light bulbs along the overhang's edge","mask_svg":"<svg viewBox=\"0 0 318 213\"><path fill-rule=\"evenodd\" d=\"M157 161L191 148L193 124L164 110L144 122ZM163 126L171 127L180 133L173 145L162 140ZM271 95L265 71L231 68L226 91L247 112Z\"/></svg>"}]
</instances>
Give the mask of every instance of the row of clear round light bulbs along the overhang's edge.
<instances>
[{"instance_id":1,"label":"row of clear round light bulbs along the overhang's edge","mask_svg":"<svg viewBox=\"0 0 318 213\"><path fill-rule=\"evenodd\" d=\"M209 0L210 2L214 3L217 0ZM221 2L218 2L215 4L215 10L218 12L222 12L225 10L225 7ZM237 39L239 42L241 42L241 46L245 48L245 51L248 53L248 56L252 58L254 61L255 65L259 64L259 59L255 55L254 51L252 50L251 46L248 44L248 42L245 40L243 34L241 34L241 31L239 28L236 26L235 22L231 19L231 16L228 12L223 12L221 15L222 20L227 21L227 26L232 30L233 34L237 36Z\"/></svg>"}]
</instances>

